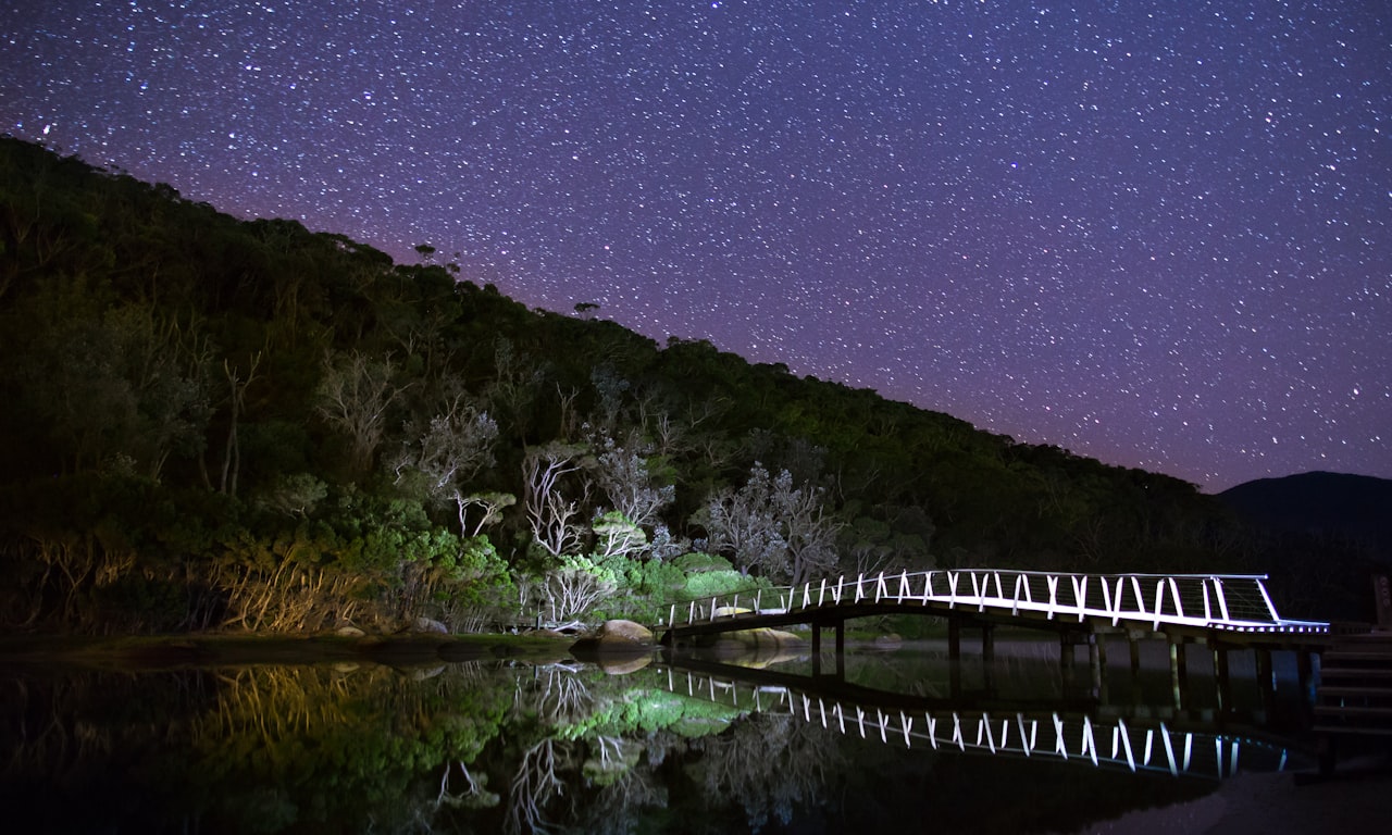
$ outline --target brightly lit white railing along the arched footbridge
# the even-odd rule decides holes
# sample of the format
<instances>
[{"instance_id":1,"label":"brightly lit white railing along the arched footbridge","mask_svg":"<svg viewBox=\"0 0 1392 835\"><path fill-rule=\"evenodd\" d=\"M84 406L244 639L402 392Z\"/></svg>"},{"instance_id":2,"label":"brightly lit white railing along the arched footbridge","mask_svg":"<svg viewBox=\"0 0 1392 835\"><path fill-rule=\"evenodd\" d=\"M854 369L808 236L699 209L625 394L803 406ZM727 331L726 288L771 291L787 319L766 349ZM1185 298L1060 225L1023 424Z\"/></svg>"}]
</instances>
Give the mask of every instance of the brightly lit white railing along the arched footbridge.
<instances>
[{"instance_id":1,"label":"brightly lit white railing along the arched footbridge","mask_svg":"<svg viewBox=\"0 0 1392 835\"><path fill-rule=\"evenodd\" d=\"M810 612L853 604L974 610L1045 619L1162 623L1235 632L1328 632L1328 623L1286 621L1267 593L1265 575L1087 575L1008 569L940 569L823 578L674 604L665 626L759 615Z\"/></svg>"}]
</instances>

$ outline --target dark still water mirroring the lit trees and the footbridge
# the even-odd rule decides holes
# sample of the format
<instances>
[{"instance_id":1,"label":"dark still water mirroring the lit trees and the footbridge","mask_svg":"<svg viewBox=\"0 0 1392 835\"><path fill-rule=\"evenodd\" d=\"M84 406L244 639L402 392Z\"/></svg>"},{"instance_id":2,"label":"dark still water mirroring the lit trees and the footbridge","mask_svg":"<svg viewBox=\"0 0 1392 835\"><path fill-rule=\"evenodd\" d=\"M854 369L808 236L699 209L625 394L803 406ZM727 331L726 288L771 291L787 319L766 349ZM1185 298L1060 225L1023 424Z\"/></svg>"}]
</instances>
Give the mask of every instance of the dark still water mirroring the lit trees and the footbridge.
<instances>
[{"instance_id":1,"label":"dark still water mirroring the lit trees and the footbridge","mask_svg":"<svg viewBox=\"0 0 1392 835\"><path fill-rule=\"evenodd\" d=\"M1180 708L1168 667L1098 693L1031 640L990 671L927 643L817 679L806 654L420 661L0 668L6 829L1068 832L1308 765L1281 728L1299 693L1263 700L1240 661L1222 704L1199 668Z\"/></svg>"}]
</instances>

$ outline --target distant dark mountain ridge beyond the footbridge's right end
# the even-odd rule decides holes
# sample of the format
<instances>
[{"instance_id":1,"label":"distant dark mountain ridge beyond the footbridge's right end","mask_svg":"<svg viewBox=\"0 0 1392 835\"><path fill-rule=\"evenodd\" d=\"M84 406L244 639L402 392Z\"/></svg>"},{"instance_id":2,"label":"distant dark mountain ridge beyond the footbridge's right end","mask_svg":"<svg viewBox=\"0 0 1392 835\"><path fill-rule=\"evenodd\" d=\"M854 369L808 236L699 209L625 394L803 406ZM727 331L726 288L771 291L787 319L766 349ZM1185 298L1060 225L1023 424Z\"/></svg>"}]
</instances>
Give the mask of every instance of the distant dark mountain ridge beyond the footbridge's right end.
<instances>
[{"instance_id":1,"label":"distant dark mountain ridge beyond the footbridge's right end","mask_svg":"<svg viewBox=\"0 0 1392 835\"><path fill-rule=\"evenodd\" d=\"M1218 500L1254 525L1363 540L1384 559L1392 558L1392 479L1299 473L1237 484Z\"/></svg>"}]
</instances>

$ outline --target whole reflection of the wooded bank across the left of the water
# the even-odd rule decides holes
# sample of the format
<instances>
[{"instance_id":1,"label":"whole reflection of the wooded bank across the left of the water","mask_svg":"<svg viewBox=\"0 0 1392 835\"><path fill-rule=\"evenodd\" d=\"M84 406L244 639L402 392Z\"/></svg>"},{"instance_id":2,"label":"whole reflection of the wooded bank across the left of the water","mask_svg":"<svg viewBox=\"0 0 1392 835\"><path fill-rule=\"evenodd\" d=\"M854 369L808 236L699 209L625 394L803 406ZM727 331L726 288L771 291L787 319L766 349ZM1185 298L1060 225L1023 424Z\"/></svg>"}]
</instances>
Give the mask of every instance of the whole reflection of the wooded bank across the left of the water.
<instances>
[{"instance_id":1,"label":"whole reflection of the wooded bank across the left of the water","mask_svg":"<svg viewBox=\"0 0 1392 835\"><path fill-rule=\"evenodd\" d=\"M742 711L667 693L650 671L459 664L423 676L303 665L84 682L0 686L0 726L22 732L18 747L0 746L0 778L53 775L64 788L45 795L49 806L139 807L146 817L121 818L132 831L370 821L376 831L617 835L700 797L670 797L674 778L714 786L717 799L681 828L721 831L732 816L786 817L837 763L786 717L693 740ZM814 763L793 761L805 756Z\"/></svg>"}]
</instances>

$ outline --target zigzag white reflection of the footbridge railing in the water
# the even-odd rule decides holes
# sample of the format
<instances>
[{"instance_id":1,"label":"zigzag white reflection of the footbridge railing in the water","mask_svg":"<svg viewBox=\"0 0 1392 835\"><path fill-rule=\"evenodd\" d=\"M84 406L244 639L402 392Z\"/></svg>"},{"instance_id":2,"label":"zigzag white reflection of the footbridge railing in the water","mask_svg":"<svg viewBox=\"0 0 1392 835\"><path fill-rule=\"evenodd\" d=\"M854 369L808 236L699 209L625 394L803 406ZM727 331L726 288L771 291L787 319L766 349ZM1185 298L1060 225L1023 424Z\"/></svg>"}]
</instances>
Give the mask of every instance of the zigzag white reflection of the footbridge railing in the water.
<instances>
[{"instance_id":1,"label":"zigzag white reflection of the footbridge railing in the water","mask_svg":"<svg viewBox=\"0 0 1392 835\"><path fill-rule=\"evenodd\" d=\"M834 694L838 686L857 690L856 697ZM1207 779L1229 777L1239 765L1285 768L1289 756L1279 739L1239 735L1212 724L1172 725L1144 715L1098 718L1045 703L963 707L941 699L856 687L839 679L807 679L685 658L667 668L667 689L741 710L786 714L842 735L908 749Z\"/></svg>"}]
</instances>

